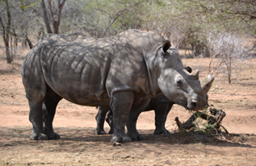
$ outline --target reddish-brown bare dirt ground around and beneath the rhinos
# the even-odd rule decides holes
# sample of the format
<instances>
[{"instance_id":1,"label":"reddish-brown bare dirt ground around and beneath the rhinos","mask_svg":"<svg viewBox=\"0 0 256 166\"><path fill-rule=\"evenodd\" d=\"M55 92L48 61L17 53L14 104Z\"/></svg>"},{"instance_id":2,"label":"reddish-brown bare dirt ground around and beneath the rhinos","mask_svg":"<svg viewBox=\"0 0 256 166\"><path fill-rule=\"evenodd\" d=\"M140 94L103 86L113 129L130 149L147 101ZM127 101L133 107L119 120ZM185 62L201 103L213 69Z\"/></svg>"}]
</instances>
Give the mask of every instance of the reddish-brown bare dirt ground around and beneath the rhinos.
<instances>
[{"instance_id":1,"label":"reddish-brown bare dirt ground around and beneath the rhinos","mask_svg":"<svg viewBox=\"0 0 256 166\"><path fill-rule=\"evenodd\" d=\"M61 139L32 141L29 107L20 68L0 57L0 165L256 165L256 59L246 60L241 73L227 83L216 77L209 91L209 105L226 113L222 125L233 136L180 133L174 118L186 121L191 112L175 105L166 121L170 135L153 135L153 111L137 122L145 140L113 147L111 135L94 135L94 107L62 100L53 125ZM208 74L209 59L183 59L184 65ZM105 131L109 127L105 123Z\"/></svg>"}]
</instances>

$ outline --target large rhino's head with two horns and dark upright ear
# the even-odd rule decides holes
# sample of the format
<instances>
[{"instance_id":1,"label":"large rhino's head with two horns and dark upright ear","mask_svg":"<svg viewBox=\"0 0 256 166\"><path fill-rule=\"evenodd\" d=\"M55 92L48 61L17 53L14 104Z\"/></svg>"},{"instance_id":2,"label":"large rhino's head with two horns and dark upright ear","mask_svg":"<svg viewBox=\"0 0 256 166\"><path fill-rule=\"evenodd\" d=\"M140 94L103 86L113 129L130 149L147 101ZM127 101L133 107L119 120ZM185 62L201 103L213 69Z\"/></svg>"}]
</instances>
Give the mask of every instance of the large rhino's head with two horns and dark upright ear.
<instances>
[{"instance_id":1,"label":"large rhino's head with two horns and dark upright ear","mask_svg":"<svg viewBox=\"0 0 256 166\"><path fill-rule=\"evenodd\" d=\"M178 50L170 47L169 41L164 42L157 54L161 68L157 83L166 98L187 110L204 110L208 106L207 93L214 77L208 75L199 80L199 70L188 73L183 67Z\"/></svg>"}]
</instances>

